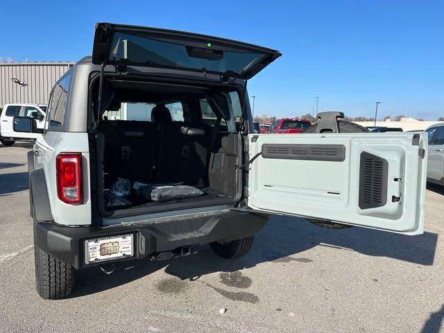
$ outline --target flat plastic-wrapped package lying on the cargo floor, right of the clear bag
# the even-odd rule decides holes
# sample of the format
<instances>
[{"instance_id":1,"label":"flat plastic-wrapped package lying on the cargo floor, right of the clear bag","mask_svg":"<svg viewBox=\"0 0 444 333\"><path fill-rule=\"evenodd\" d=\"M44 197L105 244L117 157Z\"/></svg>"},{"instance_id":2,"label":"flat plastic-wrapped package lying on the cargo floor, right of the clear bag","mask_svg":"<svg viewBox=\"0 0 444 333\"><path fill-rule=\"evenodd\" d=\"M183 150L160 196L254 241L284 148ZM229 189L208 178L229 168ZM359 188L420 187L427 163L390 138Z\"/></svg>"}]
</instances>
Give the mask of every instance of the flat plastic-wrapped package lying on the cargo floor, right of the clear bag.
<instances>
[{"instance_id":1,"label":"flat plastic-wrapped package lying on the cargo floor, right of the clear bag","mask_svg":"<svg viewBox=\"0 0 444 333\"><path fill-rule=\"evenodd\" d=\"M201 196L203 191L188 185L144 184L135 182L133 185L138 196L153 201L169 201Z\"/></svg>"}]
</instances>

